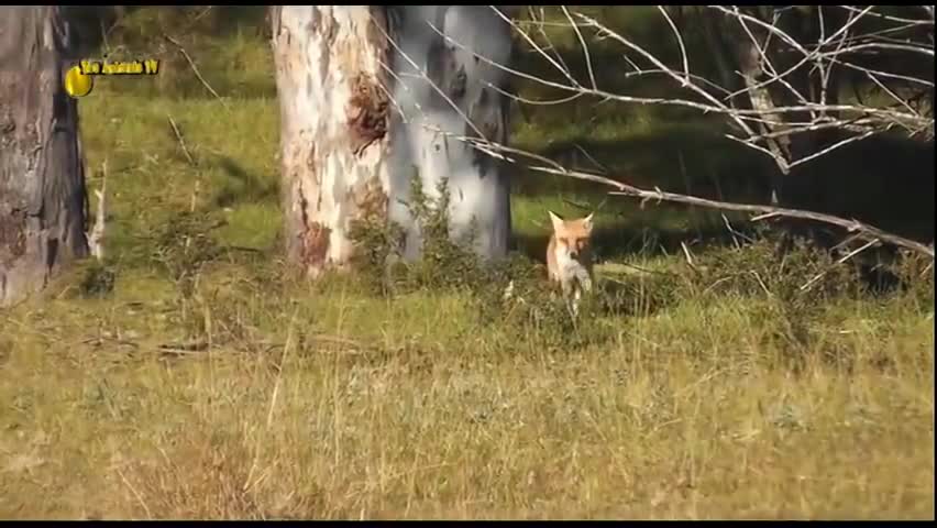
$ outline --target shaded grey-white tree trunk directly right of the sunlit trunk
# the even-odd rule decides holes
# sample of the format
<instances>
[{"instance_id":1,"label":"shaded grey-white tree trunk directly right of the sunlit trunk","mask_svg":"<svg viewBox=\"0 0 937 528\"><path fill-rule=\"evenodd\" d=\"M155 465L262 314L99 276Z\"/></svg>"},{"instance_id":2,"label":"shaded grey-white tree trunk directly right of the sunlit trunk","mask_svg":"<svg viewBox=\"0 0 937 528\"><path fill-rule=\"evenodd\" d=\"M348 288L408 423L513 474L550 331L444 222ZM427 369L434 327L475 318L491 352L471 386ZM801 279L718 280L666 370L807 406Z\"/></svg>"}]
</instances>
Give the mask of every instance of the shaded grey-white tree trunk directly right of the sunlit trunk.
<instances>
[{"instance_id":1,"label":"shaded grey-white tree trunk directly right of the sunlit trunk","mask_svg":"<svg viewBox=\"0 0 937 528\"><path fill-rule=\"evenodd\" d=\"M405 206L410 178L416 172L430 197L448 178L452 234L461 235L474 219L476 252L503 256L510 237L503 164L459 138L507 141L509 101L495 88L505 88L507 74L490 63L509 64L510 25L488 6L408 6L400 14L399 47L393 50L398 112L392 122L390 220L407 231L406 256L418 256L419 229Z\"/></svg>"}]
</instances>

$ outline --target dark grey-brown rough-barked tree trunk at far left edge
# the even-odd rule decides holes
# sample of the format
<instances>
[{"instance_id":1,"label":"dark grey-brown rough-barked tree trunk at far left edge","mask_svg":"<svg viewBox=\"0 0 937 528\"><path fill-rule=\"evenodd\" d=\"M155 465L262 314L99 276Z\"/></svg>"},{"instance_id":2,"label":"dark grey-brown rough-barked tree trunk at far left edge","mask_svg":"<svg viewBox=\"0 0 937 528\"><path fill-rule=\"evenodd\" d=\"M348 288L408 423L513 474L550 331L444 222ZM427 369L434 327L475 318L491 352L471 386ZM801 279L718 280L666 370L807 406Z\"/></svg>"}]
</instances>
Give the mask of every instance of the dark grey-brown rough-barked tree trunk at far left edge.
<instances>
[{"instance_id":1,"label":"dark grey-brown rough-barked tree trunk at far left edge","mask_svg":"<svg viewBox=\"0 0 937 528\"><path fill-rule=\"evenodd\" d=\"M70 41L57 7L0 18L0 306L88 253L78 109L63 85Z\"/></svg>"}]
</instances>

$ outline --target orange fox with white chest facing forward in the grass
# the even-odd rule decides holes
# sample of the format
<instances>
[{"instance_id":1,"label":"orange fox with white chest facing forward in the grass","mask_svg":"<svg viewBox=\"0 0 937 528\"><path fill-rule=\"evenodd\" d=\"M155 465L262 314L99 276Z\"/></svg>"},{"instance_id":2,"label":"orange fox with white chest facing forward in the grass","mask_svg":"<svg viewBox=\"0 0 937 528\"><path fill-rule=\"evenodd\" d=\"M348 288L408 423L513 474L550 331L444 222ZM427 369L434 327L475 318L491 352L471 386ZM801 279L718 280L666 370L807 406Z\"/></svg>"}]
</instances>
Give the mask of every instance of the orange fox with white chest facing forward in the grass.
<instances>
[{"instance_id":1,"label":"orange fox with white chest facing forward in the grass","mask_svg":"<svg viewBox=\"0 0 937 528\"><path fill-rule=\"evenodd\" d=\"M553 211L550 220L553 223L553 234L547 245L547 272L554 284L559 283L563 296L570 301L572 309L578 311L578 301L583 293L592 292L592 229L593 215L564 220Z\"/></svg>"}]
</instances>

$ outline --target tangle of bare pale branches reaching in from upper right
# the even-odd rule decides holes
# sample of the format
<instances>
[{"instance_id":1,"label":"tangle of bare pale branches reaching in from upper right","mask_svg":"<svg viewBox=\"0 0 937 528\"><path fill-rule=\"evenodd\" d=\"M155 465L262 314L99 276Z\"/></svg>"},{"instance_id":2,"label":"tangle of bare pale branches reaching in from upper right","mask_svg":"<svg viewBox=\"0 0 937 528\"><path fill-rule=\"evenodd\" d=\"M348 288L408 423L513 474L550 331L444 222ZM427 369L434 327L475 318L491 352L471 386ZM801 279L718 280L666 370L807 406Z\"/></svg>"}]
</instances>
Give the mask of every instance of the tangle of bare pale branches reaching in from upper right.
<instances>
[{"instance_id":1,"label":"tangle of bare pale branches reaching in from upper right","mask_svg":"<svg viewBox=\"0 0 937 528\"><path fill-rule=\"evenodd\" d=\"M819 23L819 35L811 37L815 42L806 42L806 40L802 42L798 41L798 37L803 37L804 35L797 34L795 36L794 34L782 30L779 25L781 12L783 10L774 10L773 14L765 14L765 20L762 20L758 15L742 12L738 7L709 6L708 9L721 13L727 18L727 20L738 24L745 35L743 38L748 38L750 41L752 45L752 53L758 56L760 72L763 74L759 75L759 78L757 79L754 77L747 79L747 86L743 89L734 90L732 87L712 81L706 79L704 76L694 74L691 70L686 42L684 41L683 35L681 35L679 26L674 23L670 13L668 13L662 6L657 7L657 9L662 13L664 22L669 25L677 42L677 47L680 48L680 64L676 66L665 64L664 61L655 56L647 47L643 47L633 40L609 29L606 24L598 20L581 12L572 11L571 9L567 9L567 7L561 7L561 12L569 22L567 24L536 20L537 16L533 14L531 15L532 20L530 21L512 21L495 9L495 7L490 8L520 34L521 38L528 43L534 53L545 58L548 63L551 64L553 68L558 69L565 79L550 80L530 73L520 72L508 65L497 64L489 57L477 56L478 61L485 62L492 67L564 94L562 97L549 100L533 100L525 98L518 94L509 94L506 90L492 87L504 96L528 105L560 105L583 97L591 97L597 99L599 102L617 101L620 103L677 106L695 109L703 114L723 116L726 120L737 124L741 131L738 135L726 134L727 138L740 142L746 147L754 148L769 155L784 170L790 170L795 166L808 163L820 156L825 156L844 145L862 141L875 133L888 131L895 127L904 128L907 131L919 131L925 129L933 130L934 128L934 120L932 116L924 116L921 111L915 110L915 108L910 105L910 100L901 95L902 91L900 89L890 87L883 79L893 79L894 81L902 80L921 86L929 85L932 87L933 81L926 78L914 78L913 76L899 73L875 72L864 65L856 64L856 61L858 59L855 59L856 56L873 51L888 51L890 53L933 57L933 43L928 46L913 41L900 41L897 38L892 38L891 36L882 37L882 35L885 34L901 35L901 33L897 33L897 30L901 30L901 28L888 29L889 33L885 33L885 30L879 31L879 29L875 29L877 33L856 34L857 32L862 31L859 22L864 16L878 16L889 22L903 24L905 29L913 29L923 24L933 25L933 19L929 21L913 21L875 13L874 7L845 7L848 9L848 16L845 16L846 20L841 23L837 23L838 26L834 25L834 28L829 28L829 25L833 25L834 22L827 19L827 14L825 14L823 12L824 10L820 9L817 13L818 20L815 21ZM926 11L933 16L933 10ZM466 50L464 43L456 42L452 37L443 34L440 29L432 26L432 24L430 24L430 26L445 42L462 50ZM544 26L565 26L570 29L571 33L575 36L575 41L583 47L581 52L589 77L588 86L584 86L573 77L570 68L562 63L562 58L559 57L559 55L556 57L551 56L551 53L549 52L555 51L556 47L550 43L550 38L543 31ZM627 92L615 92L605 87L599 88L596 82L594 70L595 64L593 59L595 54L589 48L591 42L586 37L586 33L582 31L583 28L595 30L595 35L592 37L594 41L607 38L625 46L628 53L622 55L622 62L627 63L631 67L631 70L625 74L626 78L663 75L675 81L680 88L688 90L692 96L687 98L674 98L668 96L643 97ZM545 42L547 45L544 46L539 44L530 34L531 31L539 31L543 37L542 41ZM430 82L432 89L439 91L448 103L459 111L458 106L450 101L445 95L442 94L441 90L427 77L426 73L417 67L416 61L407 57L393 41L390 41L390 44L401 55L404 55L404 59L408 62L416 72L418 72L418 74L400 74L401 76L419 77ZM769 46L769 44L771 45ZM639 66L635 59L629 56L629 53L635 57L635 59L640 57L639 61L644 64L650 64L650 67L644 68ZM389 70L389 68L387 69ZM894 100L895 105L872 106L862 101L859 101L858 103L838 103L837 98L833 97L836 86L834 79L841 70L847 69L858 70L866 74L875 86ZM798 74L806 75L812 84L807 87L796 88L797 86L802 86L798 85L801 81L792 81L789 79L793 79L793 76ZM775 97L767 90L767 88L772 87L773 85L778 85L775 88L779 88L779 90L776 91L785 94L785 97L790 95L791 99L789 99L787 102L792 103L775 100ZM818 90L816 88L818 88ZM714 94L718 94L718 96ZM759 94L761 96L759 96ZM731 107L729 101L740 95L748 95L750 98L764 97L765 101L770 106L765 105L751 109ZM416 110L418 112L422 112L422 109L419 107L417 107ZM462 119L468 123L470 130L475 130L474 123L472 123L461 111L459 111L459 113ZM639 188L607 176L565 168L559 163L544 156L494 143L490 139L485 138L479 133L477 138L468 138L438 130L438 128L429 124L422 125L434 130L437 133L454 138L459 141L464 141L474 148L495 158L515 164L520 164L521 160L523 160L523 164L531 170L588 180L610 187L614 190L611 190L609 195L630 196L639 198L642 202L648 200L659 202L668 201L717 210L749 212L756 215L756 217L751 219L752 221L762 221L782 217L816 221L844 228L856 238L872 241L867 244L868 246L874 245L874 243L879 242L888 242L928 255L932 258L934 257L933 245L928 246L893 233L884 232L879 228L855 219L845 219L793 208L710 200L699 198L691 194L684 195L668 193L658 188ZM796 154L800 157L796 158L792 152L779 148L779 143L775 143L778 140L783 138L796 136L798 134L820 130L841 130L849 132L850 135L830 145L816 147L815 152L800 152ZM477 131L475 132L477 133ZM594 163L597 165L596 162Z\"/></svg>"}]
</instances>

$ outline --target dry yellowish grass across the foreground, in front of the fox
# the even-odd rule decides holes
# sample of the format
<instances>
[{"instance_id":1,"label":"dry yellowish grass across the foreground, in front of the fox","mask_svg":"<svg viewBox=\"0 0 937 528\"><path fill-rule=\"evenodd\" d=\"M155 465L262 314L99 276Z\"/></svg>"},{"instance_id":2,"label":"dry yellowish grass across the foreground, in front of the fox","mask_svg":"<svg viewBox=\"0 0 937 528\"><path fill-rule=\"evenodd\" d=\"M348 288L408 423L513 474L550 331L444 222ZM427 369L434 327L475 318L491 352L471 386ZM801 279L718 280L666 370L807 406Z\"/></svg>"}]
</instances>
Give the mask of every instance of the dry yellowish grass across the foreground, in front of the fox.
<instances>
[{"instance_id":1,"label":"dry yellowish grass across the foreground, in front of the fox","mask_svg":"<svg viewBox=\"0 0 937 528\"><path fill-rule=\"evenodd\" d=\"M933 311L907 298L831 301L791 362L764 298L559 348L460 296L210 267L188 315L124 287L8 316L4 517L934 516ZM161 352L186 318L212 348Z\"/></svg>"}]
</instances>

